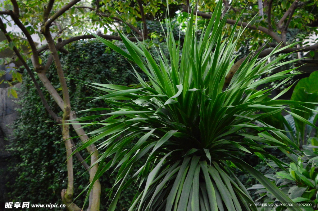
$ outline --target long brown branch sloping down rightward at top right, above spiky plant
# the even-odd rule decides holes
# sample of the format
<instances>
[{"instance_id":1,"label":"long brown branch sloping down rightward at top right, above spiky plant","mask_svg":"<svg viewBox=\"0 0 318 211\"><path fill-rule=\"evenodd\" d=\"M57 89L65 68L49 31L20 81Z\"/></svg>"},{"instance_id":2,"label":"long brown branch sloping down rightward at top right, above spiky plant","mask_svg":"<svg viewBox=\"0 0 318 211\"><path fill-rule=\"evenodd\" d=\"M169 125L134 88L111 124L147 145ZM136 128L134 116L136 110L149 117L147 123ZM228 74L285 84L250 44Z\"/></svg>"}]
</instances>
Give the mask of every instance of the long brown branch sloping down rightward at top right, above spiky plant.
<instances>
[{"instance_id":1,"label":"long brown branch sloping down rightward at top right, above spiky plant","mask_svg":"<svg viewBox=\"0 0 318 211\"><path fill-rule=\"evenodd\" d=\"M191 10L188 9L186 6L182 6L182 9L183 11L185 12L188 12L188 13L191 13ZM211 14L207 14L207 13L203 13L203 12L196 12L194 11L194 14L197 15L197 16L201 16L201 17L204 17L204 18L211 18ZM234 25L236 23L236 20L232 20L232 19L226 19L226 23L229 23L229 24L232 24ZM269 36L273 37L274 40L276 40L278 43L282 42L282 39L273 31L270 31L268 30L267 28L263 27L263 26L254 26L254 25L251 25L249 23L246 23L246 22L242 22L242 21L239 21L238 22L238 26L243 26L243 27L247 27L247 28L250 28L250 29L254 29L254 30L259 30L259 31L262 31L266 34L268 34Z\"/></svg>"}]
</instances>

